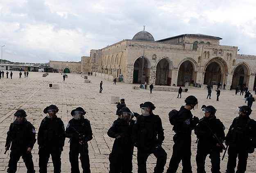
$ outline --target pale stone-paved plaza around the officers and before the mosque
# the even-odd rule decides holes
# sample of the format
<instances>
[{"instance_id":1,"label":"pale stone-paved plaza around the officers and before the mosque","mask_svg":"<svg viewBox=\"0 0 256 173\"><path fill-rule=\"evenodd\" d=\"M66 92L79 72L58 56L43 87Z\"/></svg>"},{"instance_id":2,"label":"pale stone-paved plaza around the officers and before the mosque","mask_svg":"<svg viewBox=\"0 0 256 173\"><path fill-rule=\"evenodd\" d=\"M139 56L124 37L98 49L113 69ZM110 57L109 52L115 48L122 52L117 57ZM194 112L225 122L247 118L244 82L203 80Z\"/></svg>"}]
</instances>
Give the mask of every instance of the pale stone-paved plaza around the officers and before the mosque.
<instances>
[{"instance_id":1,"label":"pale stone-paved plaza around the officers and before the mosque","mask_svg":"<svg viewBox=\"0 0 256 173\"><path fill-rule=\"evenodd\" d=\"M47 77L42 77L43 73L29 72L29 77L19 79L18 71L14 71L13 79L5 78L0 79L0 172L7 171L9 161L9 153L4 155L5 152L5 139L9 125L14 120L14 113L18 109L24 109L27 112L27 120L34 124L36 133L38 132L41 120L45 117L43 109L50 104L56 104L59 107L57 116L60 117L65 126L72 118L70 112L78 106L86 110L85 117L90 120L93 130L93 140L88 142L89 157L92 173L107 173L109 171L109 153L113 145L114 139L109 138L106 132L109 127L116 120L116 104L111 103L111 96L118 96L125 98L125 103L132 111L140 113L139 104L142 102L150 101L156 106L154 113L160 115L163 128L165 129L165 140L163 148L168 154L167 164L165 171L172 155L172 137L174 132L168 120L168 113L172 109L179 109L184 105L184 99L188 95L195 95L199 100L199 108L202 104L213 105L217 109L216 116L220 118L226 126L225 133L237 115L234 115L234 110L237 106L245 105L244 96L235 95L235 90L221 90L220 101L216 101L216 93L212 92L212 99L206 99L207 91L198 88L188 88L188 92L182 93L182 98L177 98L177 92L171 91L155 91L152 94L149 90L132 89L134 84L125 84L104 80L95 76L88 76L91 83L84 83L84 78L80 74L68 74L65 82L61 73L49 73ZM103 81L103 91L99 93L100 81ZM49 87L49 84L58 84L59 89ZM138 86L138 84L136 84ZM157 87L157 86L156 86ZM227 86L229 87L229 86ZM254 94L254 92L253 92ZM256 119L256 103L252 106L251 118ZM193 115L202 118L200 109L192 110ZM191 162L193 172L196 172L195 155L197 146L195 144L196 136L192 132L192 157ZM133 157L133 172L137 172L136 148L134 149ZM70 163L68 160L69 143L68 139L65 141L64 151L61 155L63 173L70 172ZM36 172L39 170L38 166L38 145L37 142L32 150L33 160ZM255 157L256 153L249 154L247 172L254 172L256 170ZM51 158L48 164L48 172L53 172ZM147 160L147 172L152 173L156 164L154 155L150 155ZM224 172L227 165L227 156L221 161L221 172ZM181 164L178 172L181 172ZM82 169L80 169L82 172ZM206 159L206 171L211 172L211 162ZM18 173L25 173L26 167L23 160L18 162Z\"/></svg>"}]
</instances>

